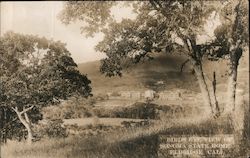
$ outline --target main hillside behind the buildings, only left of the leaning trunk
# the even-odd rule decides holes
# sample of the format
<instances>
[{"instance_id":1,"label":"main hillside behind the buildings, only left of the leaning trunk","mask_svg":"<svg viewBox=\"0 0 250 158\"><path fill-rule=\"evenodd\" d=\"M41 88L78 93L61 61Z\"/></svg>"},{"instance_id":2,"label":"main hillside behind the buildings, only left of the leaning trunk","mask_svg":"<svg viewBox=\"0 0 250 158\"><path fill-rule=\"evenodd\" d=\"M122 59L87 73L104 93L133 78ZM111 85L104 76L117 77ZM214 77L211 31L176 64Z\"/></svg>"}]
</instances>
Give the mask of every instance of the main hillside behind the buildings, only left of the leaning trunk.
<instances>
[{"instance_id":1,"label":"main hillside behind the buildings, only left of the leaning trunk","mask_svg":"<svg viewBox=\"0 0 250 158\"><path fill-rule=\"evenodd\" d=\"M83 74L92 81L93 93L120 90L173 89L197 90L198 84L190 67L180 73L181 64L186 59L181 56L161 55L150 61L141 62L123 71L123 76L105 77L99 71L100 61L78 65ZM157 84L158 82L158 84Z\"/></svg>"}]
</instances>

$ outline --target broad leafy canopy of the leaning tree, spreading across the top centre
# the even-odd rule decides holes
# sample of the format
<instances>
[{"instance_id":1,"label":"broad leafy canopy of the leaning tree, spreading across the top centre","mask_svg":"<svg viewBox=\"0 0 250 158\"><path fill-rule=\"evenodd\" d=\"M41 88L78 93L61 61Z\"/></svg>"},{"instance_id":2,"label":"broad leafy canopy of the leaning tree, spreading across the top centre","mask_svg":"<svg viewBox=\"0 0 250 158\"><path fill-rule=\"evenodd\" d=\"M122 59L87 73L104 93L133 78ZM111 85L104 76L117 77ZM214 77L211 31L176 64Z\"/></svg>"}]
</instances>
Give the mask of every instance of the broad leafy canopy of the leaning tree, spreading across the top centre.
<instances>
[{"instance_id":1,"label":"broad leafy canopy of the leaning tree, spreading across the top centre","mask_svg":"<svg viewBox=\"0 0 250 158\"><path fill-rule=\"evenodd\" d=\"M100 70L113 76L122 75L127 66L152 59L158 52L179 52L201 60L201 50L206 47L197 44L197 35L204 32L207 17L220 3L183 0L126 2L137 16L117 22L111 9L118 2L66 2L59 17L66 24L84 21L86 25L82 29L86 35L98 31L104 33L104 39L96 46L98 51L107 55L101 61ZM191 51L190 45L200 51Z\"/></svg>"}]
</instances>

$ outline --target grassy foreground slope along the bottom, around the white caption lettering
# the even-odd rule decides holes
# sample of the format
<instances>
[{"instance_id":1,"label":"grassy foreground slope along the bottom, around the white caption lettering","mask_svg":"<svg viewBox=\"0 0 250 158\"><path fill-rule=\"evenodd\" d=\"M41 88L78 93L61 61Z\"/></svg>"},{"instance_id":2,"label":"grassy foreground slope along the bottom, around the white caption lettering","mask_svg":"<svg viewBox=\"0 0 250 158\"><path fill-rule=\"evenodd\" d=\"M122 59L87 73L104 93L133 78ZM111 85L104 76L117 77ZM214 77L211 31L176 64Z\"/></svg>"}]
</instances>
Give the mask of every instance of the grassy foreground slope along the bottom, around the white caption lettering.
<instances>
[{"instance_id":1,"label":"grassy foreground slope along the bottom, around the white caption lettering","mask_svg":"<svg viewBox=\"0 0 250 158\"><path fill-rule=\"evenodd\" d=\"M23 142L8 142L2 146L4 158L117 158L145 157L157 148L158 134L213 135L230 134L232 129L225 121L192 117L161 120L150 127L116 130L105 136L83 138L70 136L64 139L44 139L27 146ZM152 155L151 155L152 156Z\"/></svg>"}]
</instances>

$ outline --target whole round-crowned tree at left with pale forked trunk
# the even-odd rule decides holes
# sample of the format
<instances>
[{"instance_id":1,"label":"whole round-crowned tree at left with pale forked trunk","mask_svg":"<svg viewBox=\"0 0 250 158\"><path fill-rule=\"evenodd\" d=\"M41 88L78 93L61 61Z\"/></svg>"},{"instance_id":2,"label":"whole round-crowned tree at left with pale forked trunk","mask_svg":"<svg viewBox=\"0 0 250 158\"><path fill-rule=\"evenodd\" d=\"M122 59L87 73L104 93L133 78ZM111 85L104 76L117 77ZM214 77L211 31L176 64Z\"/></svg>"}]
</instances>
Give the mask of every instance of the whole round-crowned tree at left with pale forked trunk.
<instances>
[{"instance_id":1,"label":"whole round-crowned tree at left with pale forked trunk","mask_svg":"<svg viewBox=\"0 0 250 158\"><path fill-rule=\"evenodd\" d=\"M1 106L11 108L33 139L34 109L73 95L91 95L90 80L80 74L65 44L12 32L1 37Z\"/></svg>"}]
</instances>

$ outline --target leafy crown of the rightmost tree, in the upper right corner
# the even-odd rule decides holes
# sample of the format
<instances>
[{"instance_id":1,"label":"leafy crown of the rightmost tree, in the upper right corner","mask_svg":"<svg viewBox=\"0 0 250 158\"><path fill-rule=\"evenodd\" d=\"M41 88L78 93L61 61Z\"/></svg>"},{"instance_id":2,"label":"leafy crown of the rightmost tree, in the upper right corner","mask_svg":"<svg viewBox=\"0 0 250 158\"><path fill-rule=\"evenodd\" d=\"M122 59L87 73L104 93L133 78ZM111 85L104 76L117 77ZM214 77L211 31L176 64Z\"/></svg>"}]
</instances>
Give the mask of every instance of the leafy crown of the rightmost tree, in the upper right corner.
<instances>
[{"instance_id":1,"label":"leafy crown of the rightmost tree, in the upper right corner","mask_svg":"<svg viewBox=\"0 0 250 158\"><path fill-rule=\"evenodd\" d=\"M246 0L228 1L217 10L222 24L214 32L216 38L212 41L211 46L215 47L209 54L212 58L217 60L227 58L230 51L234 51L233 49L243 49L248 46L248 11Z\"/></svg>"}]
</instances>

